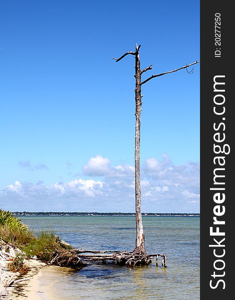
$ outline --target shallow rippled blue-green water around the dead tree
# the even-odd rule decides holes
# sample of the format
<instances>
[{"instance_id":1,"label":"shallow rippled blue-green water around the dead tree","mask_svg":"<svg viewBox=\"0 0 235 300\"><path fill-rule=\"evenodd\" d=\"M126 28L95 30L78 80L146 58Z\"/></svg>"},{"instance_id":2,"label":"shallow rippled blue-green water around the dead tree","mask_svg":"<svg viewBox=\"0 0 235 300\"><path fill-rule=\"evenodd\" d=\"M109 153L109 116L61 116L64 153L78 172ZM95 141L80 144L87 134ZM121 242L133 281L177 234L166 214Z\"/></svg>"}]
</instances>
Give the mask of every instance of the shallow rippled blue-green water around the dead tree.
<instances>
[{"instance_id":1,"label":"shallow rippled blue-green water around the dead tree","mask_svg":"<svg viewBox=\"0 0 235 300\"><path fill-rule=\"evenodd\" d=\"M133 250L134 216L23 216L34 231L53 229L78 248ZM89 263L63 272L55 299L199 299L199 217L143 216L148 253L165 253L167 268Z\"/></svg>"}]
</instances>

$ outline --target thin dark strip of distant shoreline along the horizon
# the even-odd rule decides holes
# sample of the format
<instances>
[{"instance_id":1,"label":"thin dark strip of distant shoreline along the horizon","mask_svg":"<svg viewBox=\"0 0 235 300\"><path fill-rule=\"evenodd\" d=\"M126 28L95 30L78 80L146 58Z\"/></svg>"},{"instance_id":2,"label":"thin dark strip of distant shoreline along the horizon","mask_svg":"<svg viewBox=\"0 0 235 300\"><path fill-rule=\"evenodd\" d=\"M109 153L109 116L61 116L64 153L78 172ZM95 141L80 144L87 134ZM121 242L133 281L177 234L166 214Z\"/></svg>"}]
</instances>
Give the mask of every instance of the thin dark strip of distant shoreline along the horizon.
<instances>
[{"instance_id":1,"label":"thin dark strip of distant shoreline along the horizon","mask_svg":"<svg viewBox=\"0 0 235 300\"><path fill-rule=\"evenodd\" d=\"M135 215L134 212L58 212L58 211L46 211L46 212L41 212L41 211L37 211L37 212L30 212L30 211L14 211L13 212L14 215L16 216L25 216L25 215L34 215L34 216L86 216L86 215L100 215L100 216L108 216L108 215L113 215L113 216L128 216L128 215ZM162 212L143 212L142 213L143 216L200 216L200 213L181 213L181 212L168 212L168 213L162 213Z\"/></svg>"}]
</instances>

